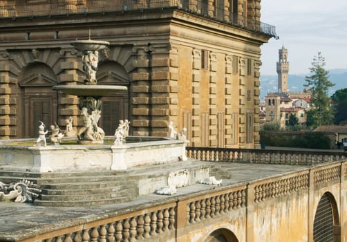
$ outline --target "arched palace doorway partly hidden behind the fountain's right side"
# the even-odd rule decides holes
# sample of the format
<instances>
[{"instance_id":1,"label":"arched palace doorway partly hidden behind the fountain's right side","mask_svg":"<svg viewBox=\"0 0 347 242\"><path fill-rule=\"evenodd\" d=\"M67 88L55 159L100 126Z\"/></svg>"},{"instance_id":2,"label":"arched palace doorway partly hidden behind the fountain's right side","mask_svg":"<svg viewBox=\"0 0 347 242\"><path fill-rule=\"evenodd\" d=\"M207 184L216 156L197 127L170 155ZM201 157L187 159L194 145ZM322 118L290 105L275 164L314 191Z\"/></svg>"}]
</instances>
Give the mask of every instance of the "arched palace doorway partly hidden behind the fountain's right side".
<instances>
[{"instance_id":1,"label":"arched palace doorway partly hidden behind the fountain's right side","mask_svg":"<svg viewBox=\"0 0 347 242\"><path fill-rule=\"evenodd\" d=\"M113 136L119 120L129 118L129 74L123 66L113 61L99 63L97 84L127 86L128 91L118 91L113 95L102 97L101 118L99 126L104 129L106 136Z\"/></svg>"}]
</instances>

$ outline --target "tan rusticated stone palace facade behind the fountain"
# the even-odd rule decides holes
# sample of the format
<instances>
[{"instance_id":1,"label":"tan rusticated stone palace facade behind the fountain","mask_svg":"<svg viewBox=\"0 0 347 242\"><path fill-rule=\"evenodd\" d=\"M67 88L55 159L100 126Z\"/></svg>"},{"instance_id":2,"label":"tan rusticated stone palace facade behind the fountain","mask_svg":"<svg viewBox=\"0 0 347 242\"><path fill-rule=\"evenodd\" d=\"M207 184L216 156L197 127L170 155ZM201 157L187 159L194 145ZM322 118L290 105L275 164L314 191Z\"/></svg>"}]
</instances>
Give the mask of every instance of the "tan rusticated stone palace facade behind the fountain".
<instances>
[{"instance_id":1,"label":"tan rusticated stone palace facade behind the fountain","mask_svg":"<svg viewBox=\"0 0 347 242\"><path fill-rule=\"evenodd\" d=\"M83 83L71 41L111 45L98 84L127 86L103 97L100 127L118 120L133 136L187 127L194 147L259 147L261 45L276 37L260 22L261 0L8 0L0 2L0 138L37 136L79 120L77 97L56 85ZM33 125L35 124L35 125Z\"/></svg>"}]
</instances>

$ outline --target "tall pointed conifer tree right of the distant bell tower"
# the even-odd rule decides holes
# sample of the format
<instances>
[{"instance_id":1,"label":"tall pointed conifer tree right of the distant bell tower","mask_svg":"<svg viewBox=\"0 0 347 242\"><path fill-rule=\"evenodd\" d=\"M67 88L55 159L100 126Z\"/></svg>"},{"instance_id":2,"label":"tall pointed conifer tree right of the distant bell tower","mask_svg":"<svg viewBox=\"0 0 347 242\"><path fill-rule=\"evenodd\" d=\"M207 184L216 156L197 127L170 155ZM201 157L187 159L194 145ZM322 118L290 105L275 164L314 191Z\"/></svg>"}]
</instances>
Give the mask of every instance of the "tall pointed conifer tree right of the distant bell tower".
<instances>
[{"instance_id":1,"label":"tall pointed conifer tree right of the distant bell tower","mask_svg":"<svg viewBox=\"0 0 347 242\"><path fill-rule=\"evenodd\" d=\"M312 128L318 127L323 124L332 124L333 111L330 105L330 98L328 97L328 91L330 86L334 86L332 82L328 80L328 71L324 68L326 65L324 57L319 52L317 56L313 58L311 63L310 72L312 75L306 76L306 86L311 91L311 109L307 112L307 117Z\"/></svg>"}]
</instances>

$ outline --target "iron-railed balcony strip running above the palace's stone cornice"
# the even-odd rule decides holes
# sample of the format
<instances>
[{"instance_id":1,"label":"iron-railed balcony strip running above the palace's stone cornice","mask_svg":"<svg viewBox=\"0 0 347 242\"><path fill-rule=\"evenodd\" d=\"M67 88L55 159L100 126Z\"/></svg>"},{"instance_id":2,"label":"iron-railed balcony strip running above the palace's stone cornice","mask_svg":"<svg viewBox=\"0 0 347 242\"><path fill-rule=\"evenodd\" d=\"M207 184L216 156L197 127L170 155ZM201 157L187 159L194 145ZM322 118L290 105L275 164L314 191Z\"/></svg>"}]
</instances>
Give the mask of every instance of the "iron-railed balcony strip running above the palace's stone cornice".
<instances>
[{"instance_id":1,"label":"iron-railed balcony strip running above the palace's stone cornice","mask_svg":"<svg viewBox=\"0 0 347 242\"><path fill-rule=\"evenodd\" d=\"M165 10L169 8L189 12L192 15L205 17L214 21L223 22L239 28L252 30L272 37L277 37L276 28L269 24L256 21L250 17L235 15L227 8L218 8L214 6L211 10L202 0L189 3L186 0L152 0L152 1L106 1L93 0L87 1L85 4L82 1L66 0L58 3L40 3L26 5L4 5L0 4L0 19L3 18L20 18L20 17L53 17L57 15L89 15L102 12L133 12L147 10Z\"/></svg>"}]
</instances>

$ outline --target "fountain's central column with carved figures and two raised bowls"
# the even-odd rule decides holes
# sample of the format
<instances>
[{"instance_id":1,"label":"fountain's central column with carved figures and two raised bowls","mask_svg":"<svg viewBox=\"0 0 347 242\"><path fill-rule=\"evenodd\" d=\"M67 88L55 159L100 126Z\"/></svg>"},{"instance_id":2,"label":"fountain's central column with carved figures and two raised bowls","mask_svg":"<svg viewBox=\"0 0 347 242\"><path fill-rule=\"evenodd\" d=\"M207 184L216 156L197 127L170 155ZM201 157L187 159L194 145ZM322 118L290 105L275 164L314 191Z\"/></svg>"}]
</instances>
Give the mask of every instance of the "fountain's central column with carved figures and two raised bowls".
<instances>
[{"instance_id":1,"label":"fountain's central column with carved figures and two raised bowls","mask_svg":"<svg viewBox=\"0 0 347 242\"><path fill-rule=\"evenodd\" d=\"M53 86L53 89L79 97L79 108L83 120L83 127L77 132L80 144L103 144L105 133L97 126L101 117L101 97L117 91L127 90L126 86L97 85L97 62L99 52L109 45L107 41L80 40L71 43L78 51L82 52L84 85Z\"/></svg>"}]
</instances>

